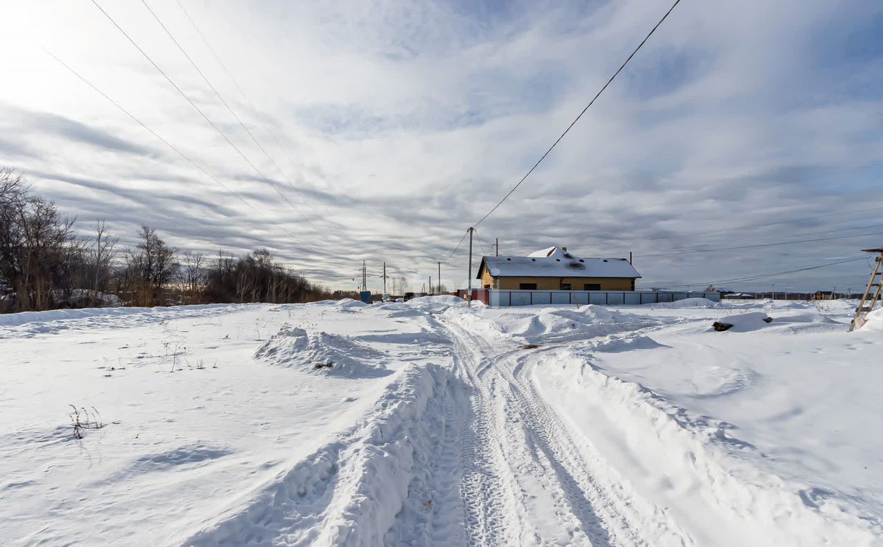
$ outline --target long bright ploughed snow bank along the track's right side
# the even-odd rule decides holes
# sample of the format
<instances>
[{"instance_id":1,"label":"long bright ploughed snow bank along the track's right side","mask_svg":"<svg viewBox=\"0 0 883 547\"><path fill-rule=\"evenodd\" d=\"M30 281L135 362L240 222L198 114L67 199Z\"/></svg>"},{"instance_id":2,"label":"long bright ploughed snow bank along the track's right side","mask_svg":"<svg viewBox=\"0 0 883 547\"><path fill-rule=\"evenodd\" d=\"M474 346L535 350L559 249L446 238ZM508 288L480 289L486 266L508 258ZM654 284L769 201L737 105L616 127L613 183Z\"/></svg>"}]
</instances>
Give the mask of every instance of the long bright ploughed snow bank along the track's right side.
<instances>
[{"instance_id":1,"label":"long bright ploughed snow bank along the track's right side","mask_svg":"<svg viewBox=\"0 0 883 547\"><path fill-rule=\"evenodd\" d=\"M537 371L543 371L548 400L573 416L603 453L596 463L609 467L596 476L634 489L636 503L663 503L697 545L876 544L875 525L840 500L822 499L810 485L785 483L752 465L740 452L755 449L732 438L728 423L691 415L570 349L542 357ZM619 476L622 461L641 473Z\"/></svg>"}]
</instances>

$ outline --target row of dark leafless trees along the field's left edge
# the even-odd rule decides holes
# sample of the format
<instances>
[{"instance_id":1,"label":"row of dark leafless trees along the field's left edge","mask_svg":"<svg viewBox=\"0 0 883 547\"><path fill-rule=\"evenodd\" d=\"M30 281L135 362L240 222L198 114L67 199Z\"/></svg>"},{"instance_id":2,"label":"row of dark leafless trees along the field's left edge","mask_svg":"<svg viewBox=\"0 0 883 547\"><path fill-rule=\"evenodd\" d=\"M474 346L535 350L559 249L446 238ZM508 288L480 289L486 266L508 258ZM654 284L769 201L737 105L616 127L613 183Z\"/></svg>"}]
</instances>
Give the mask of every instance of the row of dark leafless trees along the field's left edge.
<instances>
[{"instance_id":1,"label":"row of dark leafless trees along the field's left edge","mask_svg":"<svg viewBox=\"0 0 883 547\"><path fill-rule=\"evenodd\" d=\"M142 226L121 248L104 221L79 236L74 219L12 169L0 169L0 312L105 305L298 303L355 296L313 285L267 250L215 258L179 253Z\"/></svg>"}]
</instances>

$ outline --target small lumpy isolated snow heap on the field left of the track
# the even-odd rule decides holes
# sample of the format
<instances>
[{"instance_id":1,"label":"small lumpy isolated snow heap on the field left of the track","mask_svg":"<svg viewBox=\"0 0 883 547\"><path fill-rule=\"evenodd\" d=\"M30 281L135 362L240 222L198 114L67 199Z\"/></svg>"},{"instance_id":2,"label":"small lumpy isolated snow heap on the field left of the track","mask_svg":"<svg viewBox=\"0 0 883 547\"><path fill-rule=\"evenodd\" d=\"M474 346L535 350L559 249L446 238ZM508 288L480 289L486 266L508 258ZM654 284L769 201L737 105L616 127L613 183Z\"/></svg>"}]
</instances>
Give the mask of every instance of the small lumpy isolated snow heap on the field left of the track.
<instances>
[{"instance_id":1,"label":"small lumpy isolated snow heap on the field left of the track","mask_svg":"<svg viewBox=\"0 0 883 547\"><path fill-rule=\"evenodd\" d=\"M254 356L286 367L298 366L313 373L347 378L371 378L391 373L381 362L384 355L374 348L353 341L349 336L307 333L296 326L283 326L260 346Z\"/></svg>"}]
</instances>

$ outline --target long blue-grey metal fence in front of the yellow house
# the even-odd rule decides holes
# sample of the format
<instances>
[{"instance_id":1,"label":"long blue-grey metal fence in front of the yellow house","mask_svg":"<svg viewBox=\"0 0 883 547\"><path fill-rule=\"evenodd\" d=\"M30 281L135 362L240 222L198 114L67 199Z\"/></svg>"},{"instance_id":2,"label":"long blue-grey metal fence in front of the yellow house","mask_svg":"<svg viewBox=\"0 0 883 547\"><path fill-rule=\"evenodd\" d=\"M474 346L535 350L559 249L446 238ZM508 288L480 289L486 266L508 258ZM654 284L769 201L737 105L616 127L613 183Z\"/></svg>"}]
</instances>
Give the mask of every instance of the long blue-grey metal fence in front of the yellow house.
<instances>
[{"instance_id":1,"label":"long blue-grey metal fence in front of the yellow house","mask_svg":"<svg viewBox=\"0 0 883 547\"><path fill-rule=\"evenodd\" d=\"M630 290L502 290L490 289L488 303L492 306L530 306L535 304L640 305L642 303L675 302L687 298L707 298L721 302L720 293L630 291Z\"/></svg>"}]
</instances>

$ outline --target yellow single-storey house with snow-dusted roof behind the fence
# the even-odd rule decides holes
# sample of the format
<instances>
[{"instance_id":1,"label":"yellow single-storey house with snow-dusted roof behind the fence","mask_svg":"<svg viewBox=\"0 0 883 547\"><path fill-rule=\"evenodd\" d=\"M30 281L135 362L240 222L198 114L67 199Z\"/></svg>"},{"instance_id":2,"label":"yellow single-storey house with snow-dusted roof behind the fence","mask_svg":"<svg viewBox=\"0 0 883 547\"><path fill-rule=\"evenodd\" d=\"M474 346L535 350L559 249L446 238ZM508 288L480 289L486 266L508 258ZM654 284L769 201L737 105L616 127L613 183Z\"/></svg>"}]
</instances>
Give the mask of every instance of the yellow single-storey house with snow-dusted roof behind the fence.
<instances>
[{"instance_id":1,"label":"yellow single-storey house with snow-dusted roof behind the fence","mask_svg":"<svg viewBox=\"0 0 883 547\"><path fill-rule=\"evenodd\" d=\"M567 247L549 247L526 257L482 257L477 278L483 288L635 290L640 276L628 259L580 259Z\"/></svg>"}]
</instances>

